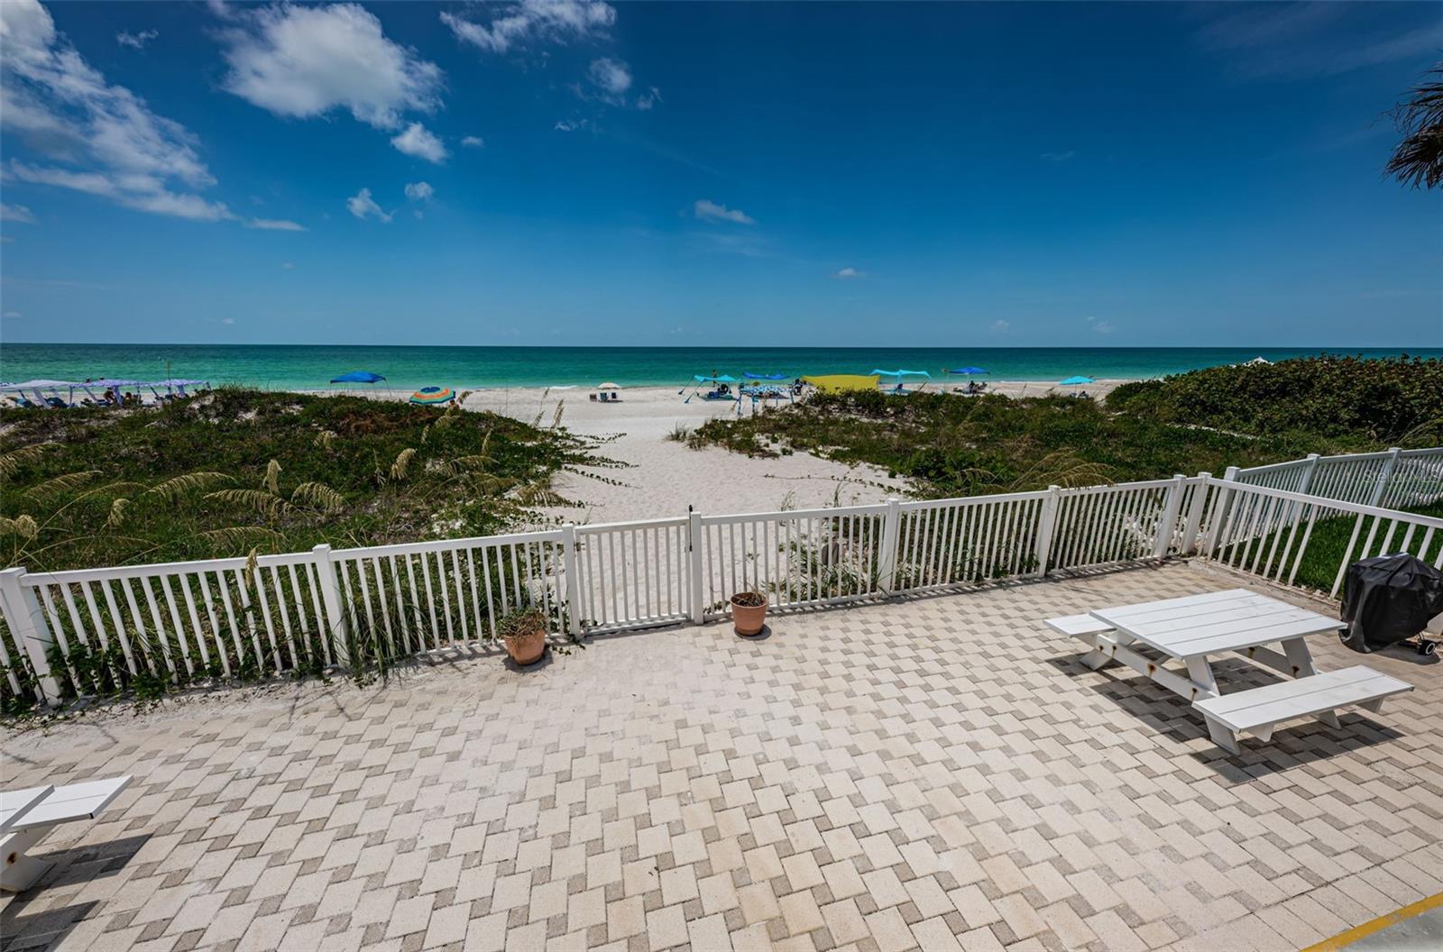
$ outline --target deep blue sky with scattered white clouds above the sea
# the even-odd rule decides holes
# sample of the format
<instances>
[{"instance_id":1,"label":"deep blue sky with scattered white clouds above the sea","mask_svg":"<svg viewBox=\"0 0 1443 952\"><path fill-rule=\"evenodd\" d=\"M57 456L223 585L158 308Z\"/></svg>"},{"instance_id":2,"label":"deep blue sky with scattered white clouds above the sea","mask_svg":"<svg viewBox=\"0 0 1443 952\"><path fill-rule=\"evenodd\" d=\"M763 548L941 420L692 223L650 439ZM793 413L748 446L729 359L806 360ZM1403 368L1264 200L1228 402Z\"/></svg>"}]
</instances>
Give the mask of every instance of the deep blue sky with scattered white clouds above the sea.
<instances>
[{"instance_id":1,"label":"deep blue sky with scattered white clouds above the sea","mask_svg":"<svg viewBox=\"0 0 1443 952\"><path fill-rule=\"evenodd\" d=\"M1436 4L0 17L9 340L1443 345Z\"/></svg>"}]
</instances>

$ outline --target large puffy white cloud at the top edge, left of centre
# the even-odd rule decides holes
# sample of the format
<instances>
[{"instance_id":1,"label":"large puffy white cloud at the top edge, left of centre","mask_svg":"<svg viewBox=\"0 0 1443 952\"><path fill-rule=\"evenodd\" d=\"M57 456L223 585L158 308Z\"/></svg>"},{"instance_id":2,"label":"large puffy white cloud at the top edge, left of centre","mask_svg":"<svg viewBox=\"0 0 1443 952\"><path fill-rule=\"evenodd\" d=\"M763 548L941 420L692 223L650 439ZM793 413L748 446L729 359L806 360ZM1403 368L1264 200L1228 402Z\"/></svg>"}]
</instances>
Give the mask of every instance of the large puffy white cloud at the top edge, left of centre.
<instances>
[{"instance_id":1,"label":"large puffy white cloud at the top edge, left of centre","mask_svg":"<svg viewBox=\"0 0 1443 952\"><path fill-rule=\"evenodd\" d=\"M335 108L384 130L407 110L439 105L444 75L416 50L385 38L381 20L354 3L278 4L234 14L224 30L229 92L287 118Z\"/></svg>"}]
</instances>

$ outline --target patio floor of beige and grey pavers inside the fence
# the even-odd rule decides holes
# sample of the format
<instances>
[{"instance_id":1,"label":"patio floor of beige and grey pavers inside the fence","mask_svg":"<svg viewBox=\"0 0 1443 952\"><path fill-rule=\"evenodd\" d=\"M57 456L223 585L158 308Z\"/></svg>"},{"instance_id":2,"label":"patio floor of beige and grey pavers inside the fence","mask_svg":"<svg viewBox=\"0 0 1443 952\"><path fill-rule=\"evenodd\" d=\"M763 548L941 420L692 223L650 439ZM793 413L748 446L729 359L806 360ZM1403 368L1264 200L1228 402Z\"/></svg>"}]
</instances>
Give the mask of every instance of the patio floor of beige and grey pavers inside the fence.
<instances>
[{"instance_id":1,"label":"patio floor of beige and grey pavers inside the fence","mask_svg":"<svg viewBox=\"0 0 1443 952\"><path fill-rule=\"evenodd\" d=\"M1141 568L6 736L4 786L136 780L42 842L0 943L1296 949L1443 890L1437 668L1374 655L1417 689L1231 757L1042 625L1237 584Z\"/></svg>"}]
</instances>

